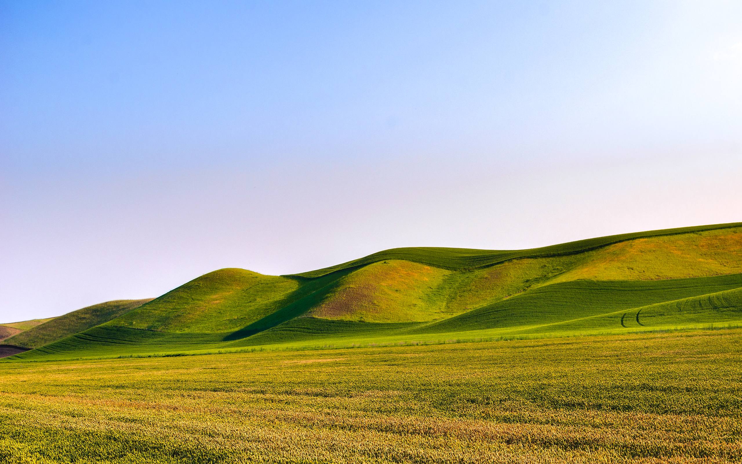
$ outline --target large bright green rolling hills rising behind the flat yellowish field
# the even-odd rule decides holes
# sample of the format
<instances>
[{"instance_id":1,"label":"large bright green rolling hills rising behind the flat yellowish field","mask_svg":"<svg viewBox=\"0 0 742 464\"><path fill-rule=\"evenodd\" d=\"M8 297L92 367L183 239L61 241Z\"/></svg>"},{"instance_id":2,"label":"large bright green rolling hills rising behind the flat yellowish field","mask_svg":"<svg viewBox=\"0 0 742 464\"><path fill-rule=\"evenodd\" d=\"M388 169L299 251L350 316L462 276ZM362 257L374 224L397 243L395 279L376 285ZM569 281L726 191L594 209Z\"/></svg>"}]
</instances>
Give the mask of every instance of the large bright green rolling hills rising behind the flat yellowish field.
<instances>
[{"instance_id":1,"label":"large bright green rolling hills rising behind the flat yellowish field","mask_svg":"<svg viewBox=\"0 0 742 464\"><path fill-rule=\"evenodd\" d=\"M742 223L516 251L390 249L297 275L220 269L13 359L734 327L741 288Z\"/></svg>"}]
</instances>

